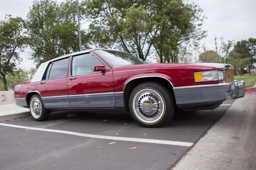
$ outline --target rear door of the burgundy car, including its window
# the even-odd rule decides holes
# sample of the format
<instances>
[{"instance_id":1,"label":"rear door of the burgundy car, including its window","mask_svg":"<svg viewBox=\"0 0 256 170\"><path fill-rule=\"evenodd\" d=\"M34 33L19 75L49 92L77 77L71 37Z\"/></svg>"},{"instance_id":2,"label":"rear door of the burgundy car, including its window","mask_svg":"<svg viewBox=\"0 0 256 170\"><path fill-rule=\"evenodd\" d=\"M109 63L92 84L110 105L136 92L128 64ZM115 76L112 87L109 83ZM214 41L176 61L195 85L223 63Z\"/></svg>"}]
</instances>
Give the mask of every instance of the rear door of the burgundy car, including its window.
<instances>
[{"instance_id":1,"label":"rear door of the burgundy car, including its window","mask_svg":"<svg viewBox=\"0 0 256 170\"><path fill-rule=\"evenodd\" d=\"M49 63L42 81L37 83L45 108L70 108L68 101L69 58Z\"/></svg>"}]
</instances>

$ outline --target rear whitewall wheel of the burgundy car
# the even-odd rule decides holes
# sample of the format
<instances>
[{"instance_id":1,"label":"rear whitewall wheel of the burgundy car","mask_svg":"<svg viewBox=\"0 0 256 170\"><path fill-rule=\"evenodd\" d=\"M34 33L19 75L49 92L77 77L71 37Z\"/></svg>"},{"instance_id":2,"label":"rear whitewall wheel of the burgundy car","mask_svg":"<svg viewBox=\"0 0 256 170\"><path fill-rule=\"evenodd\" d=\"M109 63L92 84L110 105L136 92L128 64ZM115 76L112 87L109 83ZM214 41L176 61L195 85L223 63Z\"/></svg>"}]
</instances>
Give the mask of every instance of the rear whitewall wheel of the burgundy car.
<instances>
[{"instance_id":1,"label":"rear whitewall wheel of the burgundy car","mask_svg":"<svg viewBox=\"0 0 256 170\"><path fill-rule=\"evenodd\" d=\"M50 116L50 111L44 107L38 94L32 95L29 102L30 114L36 121L46 120Z\"/></svg>"}]
</instances>

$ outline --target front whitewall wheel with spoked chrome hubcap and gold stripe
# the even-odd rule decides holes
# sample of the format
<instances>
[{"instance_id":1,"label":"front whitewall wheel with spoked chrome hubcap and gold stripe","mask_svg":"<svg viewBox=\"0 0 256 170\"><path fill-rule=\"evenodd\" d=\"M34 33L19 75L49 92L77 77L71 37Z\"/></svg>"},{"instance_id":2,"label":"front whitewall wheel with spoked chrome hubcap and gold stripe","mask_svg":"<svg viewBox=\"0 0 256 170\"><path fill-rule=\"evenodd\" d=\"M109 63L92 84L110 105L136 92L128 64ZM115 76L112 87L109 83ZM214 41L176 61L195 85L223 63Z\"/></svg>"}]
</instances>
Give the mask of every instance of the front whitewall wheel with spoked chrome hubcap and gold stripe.
<instances>
[{"instance_id":1,"label":"front whitewall wheel with spoked chrome hubcap and gold stripe","mask_svg":"<svg viewBox=\"0 0 256 170\"><path fill-rule=\"evenodd\" d=\"M172 93L156 82L136 86L130 95L129 108L134 120L144 127L162 126L175 112Z\"/></svg>"}]
</instances>

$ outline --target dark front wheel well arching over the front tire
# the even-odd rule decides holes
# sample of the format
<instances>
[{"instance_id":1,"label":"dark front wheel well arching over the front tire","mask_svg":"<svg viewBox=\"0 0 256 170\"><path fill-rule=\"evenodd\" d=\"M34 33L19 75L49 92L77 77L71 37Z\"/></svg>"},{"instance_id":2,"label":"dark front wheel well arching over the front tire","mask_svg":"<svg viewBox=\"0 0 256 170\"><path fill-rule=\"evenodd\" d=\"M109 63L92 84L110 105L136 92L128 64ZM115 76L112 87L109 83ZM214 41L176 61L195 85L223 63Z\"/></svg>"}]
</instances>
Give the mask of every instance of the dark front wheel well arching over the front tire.
<instances>
[{"instance_id":1,"label":"dark front wheel well arching over the front tire","mask_svg":"<svg viewBox=\"0 0 256 170\"><path fill-rule=\"evenodd\" d=\"M173 91L173 86L172 84L170 84L170 82L164 78L160 78L160 77L149 77L149 78L138 78L138 79L134 79L130 82L128 82L126 85L125 85L125 89L123 90L123 102L124 102L124 107L125 107L125 110L129 111L129 97L130 97L130 94L132 93L133 89L141 84L141 83L144 83L144 82L157 82L157 83L160 83L162 85L164 85L169 91L170 93L173 94L174 96L174 91ZM174 98L174 101L175 101L175 105L176 105L176 100Z\"/></svg>"}]
</instances>

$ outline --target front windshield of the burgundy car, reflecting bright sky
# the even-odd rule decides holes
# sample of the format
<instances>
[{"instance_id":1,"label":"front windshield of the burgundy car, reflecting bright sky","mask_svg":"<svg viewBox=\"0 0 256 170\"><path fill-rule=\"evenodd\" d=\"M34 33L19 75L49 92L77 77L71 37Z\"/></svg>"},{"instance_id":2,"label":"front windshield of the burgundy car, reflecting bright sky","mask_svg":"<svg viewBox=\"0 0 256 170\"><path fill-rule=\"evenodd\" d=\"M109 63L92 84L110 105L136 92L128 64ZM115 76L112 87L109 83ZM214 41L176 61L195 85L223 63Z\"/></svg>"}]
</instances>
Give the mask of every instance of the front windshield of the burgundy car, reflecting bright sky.
<instances>
[{"instance_id":1,"label":"front windshield of the burgundy car, reflecting bright sky","mask_svg":"<svg viewBox=\"0 0 256 170\"><path fill-rule=\"evenodd\" d=\"M137 57L132 56L131 54L124 53L124 52L96 50L95 53L101 56L112 67L121 66L121 65L135 65L135 64L147 63Z\"/></svg>"}]
</instances>

